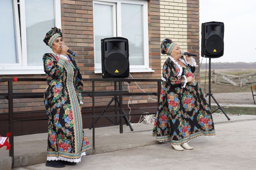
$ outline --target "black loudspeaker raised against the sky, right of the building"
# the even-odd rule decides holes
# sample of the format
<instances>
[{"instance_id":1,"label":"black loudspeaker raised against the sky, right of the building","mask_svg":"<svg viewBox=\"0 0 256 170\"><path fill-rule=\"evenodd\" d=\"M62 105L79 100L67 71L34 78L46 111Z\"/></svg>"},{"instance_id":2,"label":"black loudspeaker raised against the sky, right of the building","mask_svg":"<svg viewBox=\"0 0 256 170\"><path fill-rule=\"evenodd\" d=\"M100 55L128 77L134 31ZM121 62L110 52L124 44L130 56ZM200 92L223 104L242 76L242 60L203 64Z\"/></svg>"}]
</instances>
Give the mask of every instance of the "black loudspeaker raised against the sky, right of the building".
<instances>
[{"instance_id":1,"label":"black loudspeaker raised against the sky, right of the building","mask_svg":"<svg viewBox=\"0 0 256 170\"><path fill-rule=\"evenodd\" d=\"M224 23L202 23L201 56L218 58L224 54Z\"/></svg>"}]
</instances>

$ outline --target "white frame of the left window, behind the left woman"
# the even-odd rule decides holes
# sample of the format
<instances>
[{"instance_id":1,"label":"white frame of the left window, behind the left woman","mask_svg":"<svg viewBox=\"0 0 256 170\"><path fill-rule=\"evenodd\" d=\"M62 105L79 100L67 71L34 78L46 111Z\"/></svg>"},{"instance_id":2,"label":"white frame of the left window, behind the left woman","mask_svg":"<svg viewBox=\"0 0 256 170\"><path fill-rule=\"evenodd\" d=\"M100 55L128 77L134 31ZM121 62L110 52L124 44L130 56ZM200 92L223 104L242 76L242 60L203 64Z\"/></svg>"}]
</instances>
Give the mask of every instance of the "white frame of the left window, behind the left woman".
<instances>
[{"instance_id":1,"label":"white frame of the left window, behind the left woman","mask_svg":"<svg viewBox=\"0 0 256 170\"><path fill-rule=\"evenodd\" d=\"M18 17L18 2L12 0L14 10L14 25L17 46L18 63L0 63L0 75L13 74L45 74L42 66L27 65L27 39L26 39L26 16L25 16L25 0L20 0L20 19ZM21 24L21 26L20 26ZM54 25L61 29L61 12L60 0L54 0ZM20 36L21 35L21 36ZM22 49L22 50L21 50ZM50 49L49 49L50 50ZM42 54L43 56L43 54ZM6 56L8 57L8 56Z\"/></svg>"}]
</instances>

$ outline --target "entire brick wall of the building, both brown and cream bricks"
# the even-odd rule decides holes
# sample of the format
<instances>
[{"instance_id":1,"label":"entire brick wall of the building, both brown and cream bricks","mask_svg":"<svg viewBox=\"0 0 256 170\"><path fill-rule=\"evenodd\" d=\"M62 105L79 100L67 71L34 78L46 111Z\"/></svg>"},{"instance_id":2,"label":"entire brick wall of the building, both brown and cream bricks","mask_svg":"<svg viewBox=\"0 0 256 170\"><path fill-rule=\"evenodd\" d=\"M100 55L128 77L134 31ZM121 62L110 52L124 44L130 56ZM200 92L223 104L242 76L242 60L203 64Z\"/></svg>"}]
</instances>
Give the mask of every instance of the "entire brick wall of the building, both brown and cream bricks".
<instances>
[{"instance_id":1,"label":"entire brick wall of the building, both brown and cream bricks","mask_svg":"<svg viewBox=\"0 0 256 170\"><path fill-rule=\"evenodd\" d=\"M161 40L171 38L183 51L199 52L199 0L150 0L148 1L149 67L155 72L131 73L133 78L160 79L166 55L160 53ZM94 73L94 30L92 0L62 0L62 32L65 43L75 51L75 58L83 78L101 78ZM199 58L197 58L198 62ZM1 77L45 78L45 75L5 75ZM137 82L145 92L157 91L156 83ZM0 83L0 93L7 92L7 84ZM96 90L113 90L113 83L97 82ZM84 82L90 91L92 83ZM124 84L125 88L128 86ZM14 92L44 92L46 82L14 82ZM131 92L141 92L135 83L129 84ZM157 99L155 96L151 96ZM156 102L148 96L134 96L132 103ZM96 106L106 106L111 97L97 97ZM124 104L129 98L124 97ZM83 98L84 107L91 107L92 100ZM131 102L130 102L131 103ZM0 100L0 113L8 112L7 100ZM15 99L14 112L45 110L43 99Z\"/></svg>"}]
</instances>

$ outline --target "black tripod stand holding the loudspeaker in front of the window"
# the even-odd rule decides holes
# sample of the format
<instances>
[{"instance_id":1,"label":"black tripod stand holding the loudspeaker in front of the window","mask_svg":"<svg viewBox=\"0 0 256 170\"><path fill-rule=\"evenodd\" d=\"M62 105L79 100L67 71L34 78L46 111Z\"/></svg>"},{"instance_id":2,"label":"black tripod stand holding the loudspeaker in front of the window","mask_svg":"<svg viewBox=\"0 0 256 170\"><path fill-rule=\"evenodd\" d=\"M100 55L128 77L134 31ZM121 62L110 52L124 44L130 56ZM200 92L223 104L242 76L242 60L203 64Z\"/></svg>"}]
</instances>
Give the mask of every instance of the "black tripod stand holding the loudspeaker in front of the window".
<instances>
[{"instance_id":1,"label":"black tripod stand holding the loudspeaker in front of the window","mask_svg":"<svg viewBox=\"0 0 256 170\"><path fill-rule=\"evenodd\" d=\"M115 81L114 83L115 83L115 84L114 84L114 90L116 91L116 81ZM119 83L121 83L121 82L119 82ZM119 89L120 89L120 85L119 85ZM120 96L120 97L121 97L121 96ZM115 102L115 105L114 105L114 107L115 107L115 108L114 108L114 109L115 109L115 114L117 114L117 104L118 104L119 108L122 109L122 113L121 113L121 114L126 114L126 113L124 112L124 109L123 109L122 106L120 105L120 102L119 102L119 100L118 100L118 97L117 97L117 96L114 96L114 97L112 97L111 101L108 102L107 106L103 109L103 111L100 113L100 116L104 114L104 112L106 111L106 109L110 106L110 104L111 104L113 101ZM121 123L121 124L122 124L122 120L121 120L121 119L122 119L122 116L120 117L120 120L119 120L118 123L117 123L117 117L115 117L115 122L113 122L112 120L110 120L110 119L107 118L107 117L105 117L105 118L108 119L109 121L111 121L114 125L118 125L118 123ZM131 130L131 131L133 131L132 125L130 124L130 122L129 122L127 116L123 116L123 118L124 118L124 120L125 120L125 122L126 122L126 125L130 127L130 130ZM100 119L100 117L97 117L97 119L94 121L94 124L98 121L98 119ZM93 126L93 124L91 124L91 126L89 127L90 130L91 130L92 126ZM120 133L123 133L123 131L120 132Z\"/></svg>"}]
</instances>

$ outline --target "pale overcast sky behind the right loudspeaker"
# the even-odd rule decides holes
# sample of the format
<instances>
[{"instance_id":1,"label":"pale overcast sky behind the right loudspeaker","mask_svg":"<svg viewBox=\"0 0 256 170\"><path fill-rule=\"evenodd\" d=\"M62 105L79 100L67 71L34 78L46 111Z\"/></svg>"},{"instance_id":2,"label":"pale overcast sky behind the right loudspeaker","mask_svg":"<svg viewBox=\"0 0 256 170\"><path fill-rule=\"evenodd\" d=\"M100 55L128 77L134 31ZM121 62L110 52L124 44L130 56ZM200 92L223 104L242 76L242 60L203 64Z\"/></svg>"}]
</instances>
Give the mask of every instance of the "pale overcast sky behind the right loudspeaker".
<instances>
[{"instance_id":1,"label":"pale overcast sky behind the right loudspeaker","mask_svg":"<svg viewBox=\"0 0 256 170\"><path fill-rule=\"evenodd\" d=\"M211 62L256 62L256 0L200 0L199 3L200 43L202 23L224 23L224 55L212 58Z\"/></svg>"}]
</instances>

